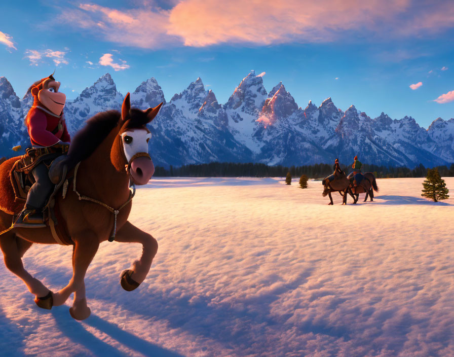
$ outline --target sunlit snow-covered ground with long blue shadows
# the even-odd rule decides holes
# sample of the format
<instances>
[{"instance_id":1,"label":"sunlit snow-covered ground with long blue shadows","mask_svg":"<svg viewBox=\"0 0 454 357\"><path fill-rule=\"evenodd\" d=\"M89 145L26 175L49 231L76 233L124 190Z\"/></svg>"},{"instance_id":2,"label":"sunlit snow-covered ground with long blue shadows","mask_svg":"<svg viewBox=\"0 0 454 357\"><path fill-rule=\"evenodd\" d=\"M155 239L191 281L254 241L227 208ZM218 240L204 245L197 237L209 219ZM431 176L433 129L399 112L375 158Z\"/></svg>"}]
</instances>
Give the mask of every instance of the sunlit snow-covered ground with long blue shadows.
<instances>
[{"instance_id":1,"label":"sunlit snow-covered ground with long blue shadows","mask_svg":"<svg viewBox=\"0 0 454 357\"><path fill-rule=\"evenodd\" d=\"M77 322L1 264L0 355L454 356L454 178L440 203L422 181L328 206L320 182L153 179L130 216L159 242L142 285L119 283L140 245L102 243ZM34 245L24 264L56 291L71 248Z\"/></svg>"}]
</instances>

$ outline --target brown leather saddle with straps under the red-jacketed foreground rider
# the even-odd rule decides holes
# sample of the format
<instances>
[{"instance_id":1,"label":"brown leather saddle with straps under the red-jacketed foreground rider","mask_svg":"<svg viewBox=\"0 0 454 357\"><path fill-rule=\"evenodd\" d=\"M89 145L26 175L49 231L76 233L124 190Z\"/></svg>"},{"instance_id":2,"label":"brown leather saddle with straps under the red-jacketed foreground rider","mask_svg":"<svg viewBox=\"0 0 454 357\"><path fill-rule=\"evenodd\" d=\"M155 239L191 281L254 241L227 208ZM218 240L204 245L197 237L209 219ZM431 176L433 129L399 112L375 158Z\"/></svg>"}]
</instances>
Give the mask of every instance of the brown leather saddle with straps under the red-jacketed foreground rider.
<instances>
[{"instance_id":1,"label":"brown leather saddle with straps under the red-jacketed foreground rider","mask_svg":"<svg viewBox=\"0 0 454 357\"><path fill-rule=\"evenodd\" d=\"M29 148L26 150L25 155L21 156L10 170L10 181L15 195L15 202L25 204L28 191L35 182L31 174L33 168L38 164L44 163L50 169L54 162L59 161L58 158L64 158L62 154L67 153L68 147L67 145L62 145L49 148ZM66 223L60 214L58 205L55 203L55 194L59 191L63 183L67 187L67 181L67 175L61 177L60 182L55 186L43 209L44 224L51 229L52 235L57 243L62 245L70 245L73 242L67 233ZM16 217L17 215L13 217L13 222L16 220Z\"/></svg>"}]
</instances>

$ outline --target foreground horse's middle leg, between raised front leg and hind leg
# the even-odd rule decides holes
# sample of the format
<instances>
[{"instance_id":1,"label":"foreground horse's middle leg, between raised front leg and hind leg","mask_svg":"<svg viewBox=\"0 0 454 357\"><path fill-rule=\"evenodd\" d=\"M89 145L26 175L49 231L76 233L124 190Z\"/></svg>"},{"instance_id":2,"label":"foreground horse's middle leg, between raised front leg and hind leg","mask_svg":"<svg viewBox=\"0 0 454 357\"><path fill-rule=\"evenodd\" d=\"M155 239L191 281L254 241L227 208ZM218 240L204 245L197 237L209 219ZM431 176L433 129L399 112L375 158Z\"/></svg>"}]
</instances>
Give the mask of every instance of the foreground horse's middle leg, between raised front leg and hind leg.
<instances>
[{"instance_id":1,"label":"foreground horse's middle leg, between raised front leg and hind leg","mask_svg":"<svg viewBox=\"0 0 454 357\"><path fill-rule=\"evenodd\" d=\"M72 293L82 291L85 273L98 251L99 239L92 231L85 231L78 236L72 237L72 240L75 242L72 252L72 277L66 287L53 294L53 304L55 306L64 304ZM76 297L74 296L74 298Z\"/></svg>"}]
</instances>

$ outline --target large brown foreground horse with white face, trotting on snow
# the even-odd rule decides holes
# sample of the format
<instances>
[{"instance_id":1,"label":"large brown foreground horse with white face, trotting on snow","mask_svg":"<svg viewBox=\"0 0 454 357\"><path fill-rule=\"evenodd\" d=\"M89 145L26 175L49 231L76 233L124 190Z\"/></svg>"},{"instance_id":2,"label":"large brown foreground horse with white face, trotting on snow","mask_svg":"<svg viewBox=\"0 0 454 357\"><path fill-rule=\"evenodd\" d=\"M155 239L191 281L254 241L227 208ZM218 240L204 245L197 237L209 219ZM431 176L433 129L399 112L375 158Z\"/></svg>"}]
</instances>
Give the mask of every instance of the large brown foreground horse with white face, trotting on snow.
<instances>
[{"instance_id":1,"label":"large brown foreground horse with white face, trotting on snow","mask_svg":"<svg viewBox=\"0 0 454 357\"><path fill-rule=\"evenodd\" d=\"M22 207L15 202L9 171L19 158L0 165L0 248L6 267L25 282L38 306L50 309L62 305L74 293L69 309L71 316L87 318L90 309L85 298L85 273L99 244L108 240L112 232L118 242L138 242L143 246L140 259L123 272L122 287L134 290L145 279L158 243L128 221L132 205L129 185L130 181L144 185L154 173L147 144L151 133L146 124L156 117L161 105L146 111L131 109L128 93L122 113L108 111L95 115L72 140L69 168L77 161L80 165L71 170L73 179L65 197L61 190L55 196L55 206L59 207L65 231L72 240L73 273L66 287L56 293L31 276L21 259L33 243L56 244L56 241L49 227L12 228L13 215Z\"/></svg>"}]
</instances>

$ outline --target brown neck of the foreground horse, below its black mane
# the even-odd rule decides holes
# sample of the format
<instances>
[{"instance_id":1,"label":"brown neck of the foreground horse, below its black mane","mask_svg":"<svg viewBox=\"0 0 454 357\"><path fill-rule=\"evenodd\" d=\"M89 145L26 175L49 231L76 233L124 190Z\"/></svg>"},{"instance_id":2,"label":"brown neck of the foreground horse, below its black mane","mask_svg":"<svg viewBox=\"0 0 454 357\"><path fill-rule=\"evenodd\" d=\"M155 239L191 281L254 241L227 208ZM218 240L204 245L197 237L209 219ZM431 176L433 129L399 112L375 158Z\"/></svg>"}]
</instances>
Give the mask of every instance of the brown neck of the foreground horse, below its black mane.
<instances>
[{"instance_id":1,"label":"brown neck of the foreground horse, below its black mane","mask_svg":"<svg viewBox=\"0 0 454 357\"><path fill-rule=\"evenodd\" d=\"M110 161L113 138L109 135L96 151L81 162L77 174L78 191L116 207L129 197L129 174L119 172Z\"/></svg>"}]
</instances>

